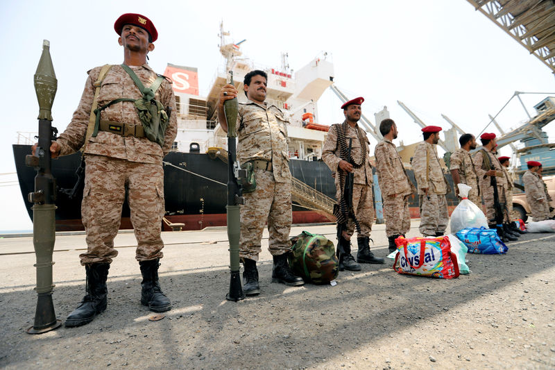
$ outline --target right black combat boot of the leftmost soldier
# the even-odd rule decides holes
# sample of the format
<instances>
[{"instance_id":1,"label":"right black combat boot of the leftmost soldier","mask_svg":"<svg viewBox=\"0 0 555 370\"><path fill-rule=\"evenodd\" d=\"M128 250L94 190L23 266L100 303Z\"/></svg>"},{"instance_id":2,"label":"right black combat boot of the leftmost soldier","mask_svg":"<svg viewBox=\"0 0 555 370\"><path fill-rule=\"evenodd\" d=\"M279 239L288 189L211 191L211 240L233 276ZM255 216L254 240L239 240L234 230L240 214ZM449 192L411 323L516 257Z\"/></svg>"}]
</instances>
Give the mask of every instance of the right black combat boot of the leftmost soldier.
<instances>
[{"instance_id":1,"label":"right black combat boot of the leftmost soldier","mask_svg":"<svg viewBox=\"0 0 555 370\"><path fill-rule=\"evenodd\" d=\"M160 258L139 262L143 275L141 303L148 305L148 309L153 312L166 312L171 310L171 302L158 284L158 267L160 267L158 262Z\"/></svg>"}]
</instances>

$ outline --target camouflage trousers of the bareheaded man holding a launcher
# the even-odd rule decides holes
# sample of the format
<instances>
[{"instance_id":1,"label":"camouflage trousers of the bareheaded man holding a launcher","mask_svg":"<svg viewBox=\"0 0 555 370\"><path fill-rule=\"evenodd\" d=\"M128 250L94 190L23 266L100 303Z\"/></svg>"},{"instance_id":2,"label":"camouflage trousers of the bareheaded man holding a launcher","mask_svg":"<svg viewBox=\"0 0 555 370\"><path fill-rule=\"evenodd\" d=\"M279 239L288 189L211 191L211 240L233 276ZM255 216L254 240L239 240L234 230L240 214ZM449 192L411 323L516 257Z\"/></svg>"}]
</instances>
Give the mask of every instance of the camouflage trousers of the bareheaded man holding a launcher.
<instances>
[{"instance_id":1,"label":"camouflage trousers of the bareheaded man holding a launcher","mask_svg":"<svg viewBox=\"0 0 555 370\"><path fill-rule=\"evenodd\" d=\"M255 169L256 189L244 194L241 205L241 237L239 257L258 260L262 251L264 224L268 220L268 250L272 255L291 251L291 182L276 183L272 171Z\"/></svg>"}]
</instances>

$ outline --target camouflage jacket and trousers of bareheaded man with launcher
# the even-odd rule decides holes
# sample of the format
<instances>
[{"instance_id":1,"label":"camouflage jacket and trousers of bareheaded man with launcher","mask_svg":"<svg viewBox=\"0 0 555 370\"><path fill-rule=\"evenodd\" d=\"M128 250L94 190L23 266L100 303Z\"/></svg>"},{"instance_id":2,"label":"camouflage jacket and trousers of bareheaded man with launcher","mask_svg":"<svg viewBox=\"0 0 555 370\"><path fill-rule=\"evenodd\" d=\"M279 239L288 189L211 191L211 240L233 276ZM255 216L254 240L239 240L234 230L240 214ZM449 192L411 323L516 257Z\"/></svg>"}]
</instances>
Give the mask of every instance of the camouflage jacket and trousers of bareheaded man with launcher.
<instances>
[{"instance_id":1,"label":"camouflage jacket and trousers of bareheaded man with launcher","mask_svg":"<svg viewBox=\"0 0 555 370\"><path fill-rule=\"evenodd\" d=\"M261 239L268 220L268 250L272 255L291 251L291 172L287 124L289 120L273 105L248 101L239 103L237 117L239 163L261 160L268 170L255 169L256 189L244 194L241 206L241 258L258 260ZM260 163L260 162L259 162ZM269 167L271 166L271 167Z\"/></svg>"}]
</instances>

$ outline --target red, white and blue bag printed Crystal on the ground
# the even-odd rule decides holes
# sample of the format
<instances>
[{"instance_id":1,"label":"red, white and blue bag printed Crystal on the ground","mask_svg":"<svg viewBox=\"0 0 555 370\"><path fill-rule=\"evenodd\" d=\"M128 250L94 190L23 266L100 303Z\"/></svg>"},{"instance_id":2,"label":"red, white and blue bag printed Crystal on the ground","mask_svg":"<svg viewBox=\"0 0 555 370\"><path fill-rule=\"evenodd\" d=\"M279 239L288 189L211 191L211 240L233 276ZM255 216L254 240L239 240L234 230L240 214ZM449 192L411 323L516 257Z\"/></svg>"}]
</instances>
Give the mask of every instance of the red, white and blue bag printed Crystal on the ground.
<instances>
[{"instance_id":1,"label":"red, white and blue bag printed Crystal on the ground","mask_svg":"<svg viewBox=\"0 0 555 370\"><path fill-rule=\"evenodd\" d=\"M451 279L459 276L459 264L448 237L398 237L393 270L399 274Z\"/></svg>"}]
</instances>

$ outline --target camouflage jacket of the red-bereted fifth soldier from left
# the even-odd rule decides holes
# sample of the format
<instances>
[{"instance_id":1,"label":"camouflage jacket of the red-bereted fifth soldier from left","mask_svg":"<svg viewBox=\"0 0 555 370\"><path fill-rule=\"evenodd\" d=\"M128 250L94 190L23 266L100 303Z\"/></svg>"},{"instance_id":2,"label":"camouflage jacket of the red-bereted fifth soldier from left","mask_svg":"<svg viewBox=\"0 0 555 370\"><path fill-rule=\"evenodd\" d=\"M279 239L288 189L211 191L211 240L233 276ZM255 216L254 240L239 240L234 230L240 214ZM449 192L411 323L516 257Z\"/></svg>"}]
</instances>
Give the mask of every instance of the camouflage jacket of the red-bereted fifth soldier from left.
<instances>
[{"instance_id":1,"label":"camouflage jacket of the red-bereted fifth soldier from left","mask_svg":"<svg viewBox=\"0 0 555 370\"><path fill-rule=\"evenodd\" d=\"M428 194L447 194L451 187L443 176L435 145L422 141L414 151L412 159L414 178L418 185L418 194L426 194L422 189L428 189Z\"/></svg>"}]
</instances>

